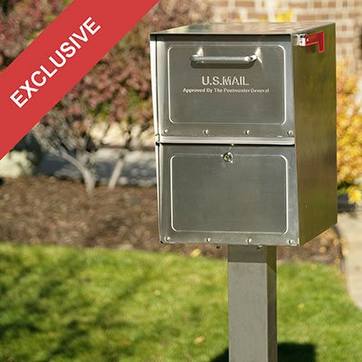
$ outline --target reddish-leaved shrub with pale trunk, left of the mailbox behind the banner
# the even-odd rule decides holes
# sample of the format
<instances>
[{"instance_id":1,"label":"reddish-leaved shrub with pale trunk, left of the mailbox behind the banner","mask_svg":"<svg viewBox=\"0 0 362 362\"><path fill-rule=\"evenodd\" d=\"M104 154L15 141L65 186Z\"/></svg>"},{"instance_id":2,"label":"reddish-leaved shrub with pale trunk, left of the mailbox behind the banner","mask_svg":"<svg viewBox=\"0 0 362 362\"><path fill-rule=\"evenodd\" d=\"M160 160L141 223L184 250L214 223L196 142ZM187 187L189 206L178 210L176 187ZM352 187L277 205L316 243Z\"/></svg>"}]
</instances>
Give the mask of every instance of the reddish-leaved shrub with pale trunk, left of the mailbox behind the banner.
<instances>
[{"instance_id":1,"label":"reddish-leaved shrub with pale trunk, left of the mailbox behind the banner","mask_svg":"<svg viewBox=\"0 0 362 362\"><path fill-rule=\"evenodd\" d=\"M0 70L31 43L69 0L0 0ZM117 123L132 145L133 135L148 129L152 120L149 33L211 17L210 6L197 0L161 0L136 27L44 117L34 129L43 148L78 167L91 193L94 153L103 139L93 139L98 122ZM140 132L132 132L135 124ZM107 130L103 138L107 136ZM119 154L122 161L124 152ZM121 167L115 167L120 173ZM118 180L117 175L110 180ZM110 185L114 185L114 182Z\"/></svg>"}]
</instances>

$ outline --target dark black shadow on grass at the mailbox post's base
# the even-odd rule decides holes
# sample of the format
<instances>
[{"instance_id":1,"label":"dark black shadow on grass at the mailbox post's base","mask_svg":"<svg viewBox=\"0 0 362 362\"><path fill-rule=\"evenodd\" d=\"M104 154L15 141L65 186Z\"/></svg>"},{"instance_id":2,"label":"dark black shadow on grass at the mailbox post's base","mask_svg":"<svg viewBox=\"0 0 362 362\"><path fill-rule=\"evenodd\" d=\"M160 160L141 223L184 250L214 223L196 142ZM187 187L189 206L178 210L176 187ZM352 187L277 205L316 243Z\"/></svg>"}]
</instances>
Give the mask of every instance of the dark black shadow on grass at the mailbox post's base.
<instances>
[{"instance_id":1,"label":"dark black shadow on grass at the mailbox post's base","mask_svg":"<svg viewBox=\"0 0 362 362\"><path fill-rule=\"evenodd\" d=\"M228 362L229 349L210 362ZM278 345L279 362L316 362L315 347L310 344L281 343Z\"/></svg>"}]
</instances>

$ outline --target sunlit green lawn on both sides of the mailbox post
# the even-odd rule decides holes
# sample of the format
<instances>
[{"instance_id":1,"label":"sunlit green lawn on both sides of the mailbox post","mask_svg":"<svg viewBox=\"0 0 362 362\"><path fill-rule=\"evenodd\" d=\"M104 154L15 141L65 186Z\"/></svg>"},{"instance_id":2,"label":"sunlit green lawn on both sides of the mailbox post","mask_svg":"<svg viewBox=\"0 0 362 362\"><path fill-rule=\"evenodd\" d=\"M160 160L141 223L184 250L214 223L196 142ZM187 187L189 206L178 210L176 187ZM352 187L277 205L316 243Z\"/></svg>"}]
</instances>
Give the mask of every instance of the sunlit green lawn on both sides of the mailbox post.
<instances>
[{"instance_id":1,"label":"sunlit green lawn on both sides of the mailbox post","mask_svg":"<svg viewBox=\"0 0 362 362\"><path fill-rule=\"evenodd\" d=\"M337 269L279 267L282 362L359 362L362 311ZM0 245L0 361L227 361L226 262Z\"/></svg>"}]
</instances>

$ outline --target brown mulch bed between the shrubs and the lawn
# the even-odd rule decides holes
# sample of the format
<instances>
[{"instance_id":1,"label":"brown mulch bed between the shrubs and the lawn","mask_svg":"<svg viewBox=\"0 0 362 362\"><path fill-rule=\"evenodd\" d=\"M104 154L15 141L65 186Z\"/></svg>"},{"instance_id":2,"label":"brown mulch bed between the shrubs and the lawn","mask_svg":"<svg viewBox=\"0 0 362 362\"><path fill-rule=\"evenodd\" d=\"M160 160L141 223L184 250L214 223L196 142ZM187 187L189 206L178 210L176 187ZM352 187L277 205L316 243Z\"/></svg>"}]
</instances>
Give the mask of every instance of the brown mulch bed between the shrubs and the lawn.
<instances>
[{"instance_id":1,"label":"brown mulch bed between the shrubs and the lawn","mask_svg":"<svg viewBox=\"0 0 362 362\"><path fill-rule=\"evenodd\" d=\"M20 177L0 183L0 240L55 243L74 247L108 247L201 253L226 256L214 245L158 243L155 187L99 186L87 196L79 182L53 177ZM309 260L338 262L338 233L330 229L303 247L280 247L281 262Z\"/></svg>"}]
</instances>

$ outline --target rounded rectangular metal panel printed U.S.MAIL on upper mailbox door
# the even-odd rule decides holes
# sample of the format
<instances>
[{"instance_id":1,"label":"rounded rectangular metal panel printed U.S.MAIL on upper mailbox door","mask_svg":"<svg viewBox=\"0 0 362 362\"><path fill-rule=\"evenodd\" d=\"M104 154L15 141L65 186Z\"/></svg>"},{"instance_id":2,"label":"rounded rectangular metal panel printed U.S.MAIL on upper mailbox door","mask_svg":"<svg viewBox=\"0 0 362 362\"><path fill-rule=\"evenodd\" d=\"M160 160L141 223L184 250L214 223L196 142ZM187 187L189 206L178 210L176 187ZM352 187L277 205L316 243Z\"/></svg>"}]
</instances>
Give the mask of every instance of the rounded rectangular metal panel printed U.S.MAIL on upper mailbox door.
<instances>
[{"instance_id":1,"label":"rounded rectangular metal panel printed U.S.MAIL on upper mailbox door","mask_svg":"<svg viewBox=\"0 0 362 362\"><path fill-rule=\"evenodd\" d=\"M248 56L255 62L240 65L224 62L216 66L195 66L190 57L202 52L207 57ZM168 117L161 127L173 132L172 125L274 124L285 122L284 49L279 45L194 45L167 44Z\"/></svg>"}]
</instances>

